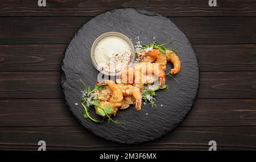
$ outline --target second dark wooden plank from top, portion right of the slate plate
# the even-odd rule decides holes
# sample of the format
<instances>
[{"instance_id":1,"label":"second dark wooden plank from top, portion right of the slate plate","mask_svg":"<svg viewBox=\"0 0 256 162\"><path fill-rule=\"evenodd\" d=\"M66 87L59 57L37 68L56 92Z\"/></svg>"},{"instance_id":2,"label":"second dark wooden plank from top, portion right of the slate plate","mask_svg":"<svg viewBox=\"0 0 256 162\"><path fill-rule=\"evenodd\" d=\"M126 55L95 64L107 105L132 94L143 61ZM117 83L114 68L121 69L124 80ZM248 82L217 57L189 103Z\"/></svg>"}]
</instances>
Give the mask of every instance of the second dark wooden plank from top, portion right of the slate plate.
<instances>
[{"instance_id":1,"label":"second dark wooden plank from top, portion right of the slate plate","mask_svg":"<svg viewBox=\"0 0 256 162\"><path fill-rule=\"evenodd\" d=\"M256 41L255 17L170 19L188 36L192 44L237 44Z\"/></svg>"}]
</instances>

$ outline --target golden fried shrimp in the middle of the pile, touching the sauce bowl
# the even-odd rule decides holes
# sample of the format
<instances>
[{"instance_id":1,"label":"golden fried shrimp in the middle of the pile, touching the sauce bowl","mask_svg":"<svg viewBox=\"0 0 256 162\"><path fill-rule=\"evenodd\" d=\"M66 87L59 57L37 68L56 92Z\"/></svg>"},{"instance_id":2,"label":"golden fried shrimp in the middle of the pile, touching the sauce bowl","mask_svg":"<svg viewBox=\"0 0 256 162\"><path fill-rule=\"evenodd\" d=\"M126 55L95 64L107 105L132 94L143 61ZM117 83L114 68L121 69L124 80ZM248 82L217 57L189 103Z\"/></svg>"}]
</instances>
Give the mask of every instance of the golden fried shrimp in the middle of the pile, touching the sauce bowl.
<instances>
[{"instance_id":1,"label":"golden fried shrimp in the middle of the pile, touching the sauce bowl","mask_svg":"<svg viewBox=\"0 0 256 162\"><path fill-rule=\"evenodd\" d=\"M152 83L152 82L148 82L150 81L147 77L148 75L150 75L151 78L152 78L152 75L156 79L159 78L159 85L164 86L166 82L166 75L163 69L161 69L158 64L153 64L153 63L142 62L142 63L135 64L133 67L126 69L121 74L120 78L123 83L142 86L144 84Z\"/></svg>"}]
</instances>

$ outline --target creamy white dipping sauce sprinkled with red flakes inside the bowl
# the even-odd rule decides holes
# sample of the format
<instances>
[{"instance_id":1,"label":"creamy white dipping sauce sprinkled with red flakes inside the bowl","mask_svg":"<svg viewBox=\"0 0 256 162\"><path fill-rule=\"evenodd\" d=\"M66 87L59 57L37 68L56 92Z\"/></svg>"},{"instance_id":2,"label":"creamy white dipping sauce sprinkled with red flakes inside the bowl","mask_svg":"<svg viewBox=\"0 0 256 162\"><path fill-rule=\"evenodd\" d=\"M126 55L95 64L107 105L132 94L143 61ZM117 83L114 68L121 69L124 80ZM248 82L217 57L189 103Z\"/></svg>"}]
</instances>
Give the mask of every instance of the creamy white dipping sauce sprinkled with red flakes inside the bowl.
<instances>
[{"instance_id":1,"label":"creamy white dipping sauce sprinkled with red flakes inside the bowl","mask_svg":"<svg viewBox=\"0 0 256 162\"><path fill-rule=\"evenodd\" d=\"M118 73L125 69L131 60L130 45L118 36L102 39L95 48L94 59L106 73Z\"/></svg>"}]
</instances>

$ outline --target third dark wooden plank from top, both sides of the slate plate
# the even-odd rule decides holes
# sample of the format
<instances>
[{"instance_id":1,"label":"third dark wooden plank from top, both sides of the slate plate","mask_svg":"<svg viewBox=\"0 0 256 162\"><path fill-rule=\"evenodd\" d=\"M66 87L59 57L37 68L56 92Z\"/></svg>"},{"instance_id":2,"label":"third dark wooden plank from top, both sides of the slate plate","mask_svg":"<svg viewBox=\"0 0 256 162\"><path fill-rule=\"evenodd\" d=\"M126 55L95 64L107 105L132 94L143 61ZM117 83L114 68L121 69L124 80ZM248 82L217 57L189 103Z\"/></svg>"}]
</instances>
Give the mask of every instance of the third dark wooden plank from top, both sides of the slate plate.
<instances>
[{"instance_id":1,"label":"third dark wooden plank from top, both sides of the slate plate","mask_svg":"<svg viewBox=\"0 0 256 162\"><path fill-rule=\"evenodd\" d=\"M60 71L65 44L0 45L0 71ZM201 72L256 70L255 44L194 45Z\"/></svg>"}]
</instances>

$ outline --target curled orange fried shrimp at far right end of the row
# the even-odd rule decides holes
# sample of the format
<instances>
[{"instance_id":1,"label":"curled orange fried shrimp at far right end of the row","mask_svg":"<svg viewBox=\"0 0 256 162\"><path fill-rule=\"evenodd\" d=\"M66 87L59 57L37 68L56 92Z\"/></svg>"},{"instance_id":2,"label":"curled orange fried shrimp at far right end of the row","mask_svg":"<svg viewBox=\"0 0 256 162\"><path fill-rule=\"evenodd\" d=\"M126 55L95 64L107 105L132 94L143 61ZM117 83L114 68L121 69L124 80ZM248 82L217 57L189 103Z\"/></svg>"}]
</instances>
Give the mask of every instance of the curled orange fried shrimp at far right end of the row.
<instances>
[{"instance_id":1,"label":"curled orange fried shrimp at far right end of the row","mask_svg":"<svg viewBox=\"0 0 256 162\"><path fill-rule=\"evenodd\" d=\"M166 49L166 60L174 64L174 68L170 70L171 74L177 74L180 72L181 62L174 51Z\"/></svg>"}]
</instances>

